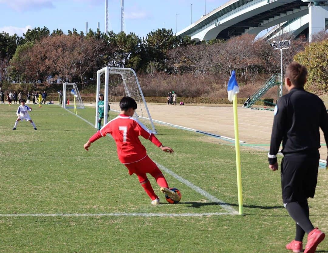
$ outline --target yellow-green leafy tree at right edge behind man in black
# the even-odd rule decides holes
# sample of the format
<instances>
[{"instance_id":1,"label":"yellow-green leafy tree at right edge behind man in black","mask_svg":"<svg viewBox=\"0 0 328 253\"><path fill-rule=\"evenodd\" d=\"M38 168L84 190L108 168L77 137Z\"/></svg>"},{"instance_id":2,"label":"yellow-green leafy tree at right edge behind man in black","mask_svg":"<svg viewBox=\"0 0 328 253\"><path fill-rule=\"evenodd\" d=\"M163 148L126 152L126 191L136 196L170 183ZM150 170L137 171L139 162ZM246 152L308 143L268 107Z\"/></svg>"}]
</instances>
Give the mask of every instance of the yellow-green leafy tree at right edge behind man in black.
<instances>
[{"instance_id":1,"label":"yellow-green leafy tree at right edge behind man in black","mask_svg":"<svg viewBox=\"0 0 328 253\"><path fill-rule=\"evenodd\" d=\"M306 89L317 84L321 90L328 90L328 40L311 43L303 52L295 55L294 60L305 65L308 70Z\"/></svg>"}]
</instances>

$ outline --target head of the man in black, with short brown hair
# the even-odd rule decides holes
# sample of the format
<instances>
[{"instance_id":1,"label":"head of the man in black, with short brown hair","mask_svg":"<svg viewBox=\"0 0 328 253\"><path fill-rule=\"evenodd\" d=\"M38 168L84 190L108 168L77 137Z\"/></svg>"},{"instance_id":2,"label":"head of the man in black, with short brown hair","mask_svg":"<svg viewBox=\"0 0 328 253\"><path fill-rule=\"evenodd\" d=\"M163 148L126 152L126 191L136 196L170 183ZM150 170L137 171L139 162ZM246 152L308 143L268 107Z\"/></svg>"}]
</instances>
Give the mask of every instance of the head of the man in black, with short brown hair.
<instances>
[{"instance_id":1,"label":"head of the man in black, with short brown hair","mask_svg":"<svg viewBox=\"0 0 328 253\"><path fill-rule=\"evenodd\" d=\"M305 66L293 61L288 64L285 76L289 78L296 87L303 87L306 82L307 69Z\"/></svg>"}]
</instances>

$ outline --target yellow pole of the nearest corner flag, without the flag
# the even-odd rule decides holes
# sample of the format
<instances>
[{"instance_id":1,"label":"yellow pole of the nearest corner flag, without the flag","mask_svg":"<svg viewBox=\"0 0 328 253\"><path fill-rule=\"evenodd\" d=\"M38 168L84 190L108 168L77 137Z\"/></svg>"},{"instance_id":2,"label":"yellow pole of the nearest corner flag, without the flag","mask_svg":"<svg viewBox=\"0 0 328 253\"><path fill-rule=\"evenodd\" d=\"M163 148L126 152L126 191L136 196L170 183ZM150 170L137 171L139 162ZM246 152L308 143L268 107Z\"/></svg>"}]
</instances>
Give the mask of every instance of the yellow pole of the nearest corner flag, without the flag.
<instances>
[{"instance_id":1,"label":"yellow pole of the nearest corner flag, without the flag","mask_svg":"<svg viewBox=\"0 0 328 253\"><path fill-rule=\"evenodd\" d=\"M237 113L237 94L234 95L234 126L235 126L235 149L236 149L236 169L237 169L237 188L238 188L238 207L239 214L243 214L243 193L241 188L241 169L240 169L240 150L239 150L239 131Z\"/></svg>"}]
</instances>

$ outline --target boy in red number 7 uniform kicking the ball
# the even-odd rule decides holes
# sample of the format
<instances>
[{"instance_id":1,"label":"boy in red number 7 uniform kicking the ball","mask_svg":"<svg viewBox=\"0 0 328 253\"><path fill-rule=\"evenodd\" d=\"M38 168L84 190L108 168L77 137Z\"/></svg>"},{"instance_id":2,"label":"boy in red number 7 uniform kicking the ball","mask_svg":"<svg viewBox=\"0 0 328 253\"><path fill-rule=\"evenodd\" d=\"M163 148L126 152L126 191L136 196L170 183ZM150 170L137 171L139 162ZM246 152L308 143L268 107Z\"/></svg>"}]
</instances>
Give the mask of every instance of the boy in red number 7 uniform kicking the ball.
<instances>
[{"instance_id":1,"label":"boy in red number 7 uniform kicking the ball","mask_svg":"<svg viewBox=\"0 0 328 253\"><path fill-rule=\"evenodd\" d=\"M159 197L154 193L146 173L150 173L155 178L162 193L178 201L179 196L169 189L163 173L148 157L146 148L141 144L139 136L150 140L164 152L173 153L173 149L163 146L147 127L132 117L137 108L133 98L123 97L120 101L120 108L121 113L92 135L84 144L84 149L89 150L92 142L108 133L111 134L116 143L118 159L128 168L130 175L135 173L138 176L141 186L152 199L152 204L159 204Z\"/></svg>"}]
</instances>

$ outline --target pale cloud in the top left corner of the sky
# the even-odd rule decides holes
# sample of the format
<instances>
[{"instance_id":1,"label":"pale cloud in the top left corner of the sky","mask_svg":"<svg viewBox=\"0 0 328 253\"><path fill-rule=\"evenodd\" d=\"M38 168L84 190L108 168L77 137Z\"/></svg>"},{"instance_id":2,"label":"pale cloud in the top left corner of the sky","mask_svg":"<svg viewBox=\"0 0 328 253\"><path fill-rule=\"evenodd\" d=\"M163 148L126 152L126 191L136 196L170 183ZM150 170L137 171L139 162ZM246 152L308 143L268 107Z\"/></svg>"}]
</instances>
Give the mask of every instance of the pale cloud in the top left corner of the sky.
<instances>
[{"instance_id":1,"label":"pale cloud in the top left corner of the sky","mask_svg":"<svg viewBox=\"0 0 328 253\"><path fill-rule=\"evenodd\" d=\"M50 0L0 0L0 4L6 4L15 11L39 10L54 8Z\"/></svg>"}]
</instances>

